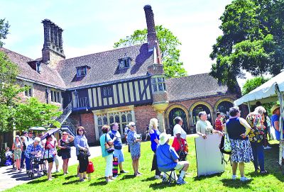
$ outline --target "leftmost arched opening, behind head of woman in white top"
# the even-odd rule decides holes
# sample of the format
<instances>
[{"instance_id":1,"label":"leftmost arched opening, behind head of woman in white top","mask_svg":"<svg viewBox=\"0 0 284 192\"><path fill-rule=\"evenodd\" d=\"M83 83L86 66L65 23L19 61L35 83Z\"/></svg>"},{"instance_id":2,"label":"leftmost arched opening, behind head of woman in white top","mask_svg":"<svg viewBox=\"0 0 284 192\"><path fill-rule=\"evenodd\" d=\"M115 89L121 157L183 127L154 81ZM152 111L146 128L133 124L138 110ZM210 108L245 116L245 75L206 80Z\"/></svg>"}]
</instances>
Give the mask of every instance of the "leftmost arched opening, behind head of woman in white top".
<instances>
[{"instance_id":1,"label":"leftmost arched opening, behind head of woman in white top","mask_svg":"<svg viewBox=\"0 0 284 192\"><path fill-rule=\"evenodd\" d=\"M188 133L188 127L187 127L187 115L185 113L185 111L183 111L181 108L173 108L169 115L168 115L168 119L169 119L169 123L170 126L169 128L166 130L166 132L168 134L173 135L173 127L175 126L175 117L180 116L183 120L183 125L182 125L182 129L185 130L185 132Z\"/></svg>"}]
</instances>

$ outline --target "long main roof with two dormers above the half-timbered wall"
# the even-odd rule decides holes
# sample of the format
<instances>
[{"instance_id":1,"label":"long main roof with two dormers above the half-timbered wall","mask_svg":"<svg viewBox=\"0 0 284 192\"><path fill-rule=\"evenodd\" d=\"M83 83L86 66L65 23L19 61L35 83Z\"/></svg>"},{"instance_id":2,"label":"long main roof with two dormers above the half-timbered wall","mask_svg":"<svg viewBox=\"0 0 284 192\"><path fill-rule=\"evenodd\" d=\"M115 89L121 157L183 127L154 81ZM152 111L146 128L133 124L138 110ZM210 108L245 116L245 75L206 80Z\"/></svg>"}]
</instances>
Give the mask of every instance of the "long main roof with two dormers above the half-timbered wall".
<instances>
[{"instance_id":1,"label":"long main roof with two dormers above the half-timbered wall","mask_svg":"<svg viewBox=\"0 0 284 192\"><path fill-rule=\"evenodd\" d=\"M92 55L62 60L58 64L58 72L65 81L67 89L102 84L124 79L135 79L147 74L147 67L153 64L153 52L148 52L147 43L124 47ZM131 67L119 69L119 59L131 57ZM85 77L76 77L76 67L88 66Z\"/></svg>"}]
</instances>

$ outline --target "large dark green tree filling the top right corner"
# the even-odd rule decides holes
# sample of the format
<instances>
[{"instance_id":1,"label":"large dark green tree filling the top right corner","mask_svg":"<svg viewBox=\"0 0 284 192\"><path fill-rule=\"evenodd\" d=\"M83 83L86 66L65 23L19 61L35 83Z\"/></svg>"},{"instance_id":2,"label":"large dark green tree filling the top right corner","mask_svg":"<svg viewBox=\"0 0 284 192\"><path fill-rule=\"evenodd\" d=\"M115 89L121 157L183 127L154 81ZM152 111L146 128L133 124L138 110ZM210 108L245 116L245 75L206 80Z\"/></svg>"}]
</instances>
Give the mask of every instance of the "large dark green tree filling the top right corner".
<instances>
[{"instance_id":1,"label":"large dark green tree filling the top right corner","mask_svg":"<svg viewBox=\"0 0 284 192\"><path fill-rule=\"evenodd\" d=\"M244 71L276 75L284 67L284 1L235 0L226 6L210 74L234 88Z\"/></svg>"}]
</instances>

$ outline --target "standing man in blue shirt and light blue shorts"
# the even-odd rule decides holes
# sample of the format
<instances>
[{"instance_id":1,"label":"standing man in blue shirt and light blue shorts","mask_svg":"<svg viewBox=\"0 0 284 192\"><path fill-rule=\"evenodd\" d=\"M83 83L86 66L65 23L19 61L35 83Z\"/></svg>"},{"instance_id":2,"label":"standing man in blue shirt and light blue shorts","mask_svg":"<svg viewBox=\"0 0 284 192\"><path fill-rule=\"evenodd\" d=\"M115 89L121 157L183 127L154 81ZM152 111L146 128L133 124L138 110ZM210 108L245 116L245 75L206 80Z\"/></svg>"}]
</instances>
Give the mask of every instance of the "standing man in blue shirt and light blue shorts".
<instances>
[{"instance_id":1,"label":"standing man in blue shirt and light blue shorts","mask_svg":"<svg viewBox=\"0 0 284 192\"><path fill-rule=\"evenodd\" d=\"M118 130L119 124L116 122L111 123L111 130L109 131L109 136L114 142L114 157L117 157L117 159L119 160L120 173L125 174L128 173L128 171L125 171L122 167L122 162L124 162L124 153L122 152L121 135Z\"/></svg>"}]
</instances>

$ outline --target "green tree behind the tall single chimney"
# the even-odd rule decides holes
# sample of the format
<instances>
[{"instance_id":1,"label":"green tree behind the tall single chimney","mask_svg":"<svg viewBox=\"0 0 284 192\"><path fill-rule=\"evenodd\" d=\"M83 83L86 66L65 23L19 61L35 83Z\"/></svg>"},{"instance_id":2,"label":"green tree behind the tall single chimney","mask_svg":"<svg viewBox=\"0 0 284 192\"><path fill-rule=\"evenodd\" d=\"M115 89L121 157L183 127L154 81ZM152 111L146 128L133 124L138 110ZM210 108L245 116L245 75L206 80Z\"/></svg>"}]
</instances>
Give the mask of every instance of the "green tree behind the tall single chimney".
<instances>
[{"instance_id":1,"label":"green tree behind the tall single chimney","mask_svg":"<svg viewBox=\"0 0 284 192\"><path fill-rule=\"evenodd\" d=\"M173 35L170 30L164 28L163 26L155 26L155 30L160 46L165 77L170 78L186 76L187 72L182 67L182 62L180 62L180 50L178 50L178 46L181 45L180 40L178 40L178 38ZM114 43L114 48L146 43L147 33L146 28L143 30L135 30L132 35L127 36L124 39L120 39L119 42Z\"/></svg>"}]
</instances>

